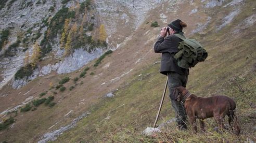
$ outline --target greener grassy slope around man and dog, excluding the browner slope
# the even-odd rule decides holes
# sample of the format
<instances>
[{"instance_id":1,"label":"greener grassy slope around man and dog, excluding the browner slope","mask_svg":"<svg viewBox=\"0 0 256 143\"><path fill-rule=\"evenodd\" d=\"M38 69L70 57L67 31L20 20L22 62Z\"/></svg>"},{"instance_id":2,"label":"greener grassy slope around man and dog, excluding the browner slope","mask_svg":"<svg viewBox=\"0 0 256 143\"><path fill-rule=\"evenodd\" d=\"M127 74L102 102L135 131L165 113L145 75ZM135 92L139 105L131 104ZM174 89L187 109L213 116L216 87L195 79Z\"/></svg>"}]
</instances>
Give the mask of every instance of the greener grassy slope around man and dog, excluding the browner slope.
<instances>
[{"instance_id":1,"label":"greener grassy slope around man and dog, excluding the browner slope","mask_svg":"<svg viewBox=\"0 0 256 143\"><path fill-rule=\"evenodd\" d=\"M256 99L256 27L252 25L242 30L239 35L232 32L246 17L253 14L253 1L246 1L234 21L215 33L215 21L220 21L225 12L230 9L221 8L222 12L212 16L212 22L207 27L206 34L195 35L209 52L206 62L200 63L190 70L187 88L198 96L224 94L235 99L240 120L241 140L255 138L255 105ZM217 8L216 8L217 9ZM216 11L210 11L212 13ZM225 13L226 14L226 13ZM207 120L206 133L193 134L191 130L180 132L170 125L170 130L147 138L140 133L151 126L155 120L165 76L158 73L159 64L147 65L129 81L121 85L113 98L103 98L99 104L92 107L92 115L83 119L69 132L64 133L56 142L139 142L139 141L217 141L234 142L237 138L229 133L216 133L213 120ZM139 76L141 74L141 76ZM168 98L168 97L167 97ZM255 108L255 107L254 107ZM160 122L172 118L169 99L165 100Z\"/></svg>"}]
</instances>

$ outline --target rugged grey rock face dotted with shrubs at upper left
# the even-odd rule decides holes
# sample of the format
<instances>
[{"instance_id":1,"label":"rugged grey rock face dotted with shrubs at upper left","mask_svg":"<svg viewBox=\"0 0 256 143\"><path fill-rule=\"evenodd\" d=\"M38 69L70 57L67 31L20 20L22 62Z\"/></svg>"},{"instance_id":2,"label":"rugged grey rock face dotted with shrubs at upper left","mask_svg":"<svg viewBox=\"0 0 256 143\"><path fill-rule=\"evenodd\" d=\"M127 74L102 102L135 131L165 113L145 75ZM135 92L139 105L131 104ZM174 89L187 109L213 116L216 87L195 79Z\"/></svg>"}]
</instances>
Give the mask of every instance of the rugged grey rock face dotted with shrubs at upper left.
<instances>
[{"instance_id":1,"label":"rugged grey rock face dotted with shrubs at upper left","mask_svg":"<svg viewBox=\"0 0 256 143\"><path fill-rule=\"evenodd\" d=\"M5 42L5 44L0 51L0 88L2 88L9 81L13 81L12 87L14 88L20 88L23 85L27 84L29 81L31 81L31 78L28 77L24 77L23 79L18 80L14 79L14 75L22 66L24 66L26 52L29 52L30 56L33 54L33 47L35 42L39 44L41 43L40 45L43 53L46 50L48 52L49 46L52 49L52 53L54 54L54 56L46 56L43 60L47 60L49 58L62 59L63 54L65 53L65 50L60 48L62 27L59 28L55 26L58 24L58 21L54 20L57 19L60 22L61 18L59 17L65 16L62 14L62 11L64 11L63 9L65 7L69 8L70 11L67 11L67 15L72 15L72 19L76 20L78 24L81 25L81 19L83 19L83 21L86 21L86 23L84 24L91 24L91 28L93 28L93 26L95 25L94 30L90 30L91 32L87 32L85 36L92 36L93 32L97 31L100 23L98 17L96 16L96 13L93 12L94 4L88 4L92 9L91 11L83 11L83 9L80 8L82 2L84 1L67 1L63 3L63 1L60 0L39 0L37 2L17 0L6 1L6 3L3 3L3 8L1 9L0 16L0 29L2 31L8 30L9 35L8 40L3 41ZM83 8L86 9L86 7ZM78 13L78 11L80 13ZM86 14L84 14L84 12ZM63 19L64 18L62 18L61 21L63 21ZM61 24L63 25L62 22ZM70 25L72 26L72 24L74 23L71 23ZM59 30L57 29L56 31L56 28L59 28ZM54 31L56 32L54 33ZM83 31L88 31L88 26L86 27L85 25ZM53 32L53 36L47 39L46 35L50 34L51 32ZM47 44L45 44L45 40L48 40ZM15 44L15 42L17 41L20 41L19 44L15 47L10 48L10 46ZM37 70L39 70L38 75L42 76L46 73L49 74L50 71L53 70L57 70L57 73L61 74L70 73L71 71L81 68L87 62L98 58L101 54L104 53L103 47L96 46L95 48L94 46L94 48L92 48L92 46L86 45L86 43L84 45L76 47L75 49L76 50L73 51L73 54L71 54L67 58L64 57L64 59L59 63L48 63L48 65L39 65L39 68L37 68ZM106 50L106 47L104 49ZM68 64L68 66L66 64ZM49 66L53 66L54 68L47 68ZM48 71L46 71L47 69ZM33 76L33 79L35 78L35 75L31 76Z\"/></svg>"}]
</instances>

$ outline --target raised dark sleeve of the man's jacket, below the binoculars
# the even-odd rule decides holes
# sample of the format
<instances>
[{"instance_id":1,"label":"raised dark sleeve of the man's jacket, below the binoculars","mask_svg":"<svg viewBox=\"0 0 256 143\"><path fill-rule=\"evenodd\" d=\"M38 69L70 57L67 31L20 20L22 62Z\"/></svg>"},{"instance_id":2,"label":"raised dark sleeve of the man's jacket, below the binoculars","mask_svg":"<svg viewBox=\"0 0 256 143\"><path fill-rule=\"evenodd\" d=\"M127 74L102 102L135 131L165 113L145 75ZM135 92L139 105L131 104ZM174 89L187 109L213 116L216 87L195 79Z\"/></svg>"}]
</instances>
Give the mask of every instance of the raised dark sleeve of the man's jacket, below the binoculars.
<instances>
[{"instance_id":1,"label":"raised dark sleeve of the man's jacket, below the binoculars","mask_svg":"<svg viewBox=\"0 0 256 143\"><path fill-rule=\"evenodd\" d=\"M154 50L156 53L177 52L177 45L172 36L167 36L165 39L160 36L155 43Z\"/></svg>"}]
</instances>

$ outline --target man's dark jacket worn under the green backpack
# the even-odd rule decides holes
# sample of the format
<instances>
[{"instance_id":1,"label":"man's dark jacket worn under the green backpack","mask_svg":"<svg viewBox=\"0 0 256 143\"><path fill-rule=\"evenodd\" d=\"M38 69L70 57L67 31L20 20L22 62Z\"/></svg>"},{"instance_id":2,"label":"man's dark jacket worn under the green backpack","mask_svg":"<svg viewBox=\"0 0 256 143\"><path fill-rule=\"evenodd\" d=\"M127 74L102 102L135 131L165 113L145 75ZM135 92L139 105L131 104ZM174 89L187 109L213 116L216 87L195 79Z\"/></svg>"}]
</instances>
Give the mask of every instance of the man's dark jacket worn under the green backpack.
<instances>
[{"instance_id":1,"label":"man's dark jacket worn under the green backpack","mask_svg":"<svg viewBox=\"0 0 256 143\"><path fill-rule=\"evenodd\" d=\"M183 32L175 33L183 35ZM180 75L189 75L188 69L181 68L177 65L177 60L174 58L174 54L178 52L180 38L170 35L165 39L164 37L158 37L155 43L154 50L156 53L162 53L160 73L167 75L168 72L174 71Z\"/></svg>"}]
</instances>

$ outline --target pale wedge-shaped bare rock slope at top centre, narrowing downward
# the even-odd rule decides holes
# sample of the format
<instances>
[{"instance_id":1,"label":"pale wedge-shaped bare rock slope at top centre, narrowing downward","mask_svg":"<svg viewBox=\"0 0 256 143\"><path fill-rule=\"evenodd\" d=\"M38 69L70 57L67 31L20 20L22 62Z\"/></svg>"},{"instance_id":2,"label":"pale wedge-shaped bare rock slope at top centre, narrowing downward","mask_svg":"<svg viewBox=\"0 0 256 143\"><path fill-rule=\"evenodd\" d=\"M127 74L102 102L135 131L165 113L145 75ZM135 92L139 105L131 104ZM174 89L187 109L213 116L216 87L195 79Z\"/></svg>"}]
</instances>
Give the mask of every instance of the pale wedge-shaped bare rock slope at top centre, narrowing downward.
<instances>
[{"instance_id":1,"label":"pale wedge-shaped bare rock slope at top centre, narrowing downward","mask_svg":"<svg viewBox=\"0 0 256 143\"><path fill-rule=\"evenodd\" d=\"M145 21L151 9L165 2L167 1L96 0L96 9L107 27L109 45L114 49L118 48Z\"/></svg>"}]
</instances>

